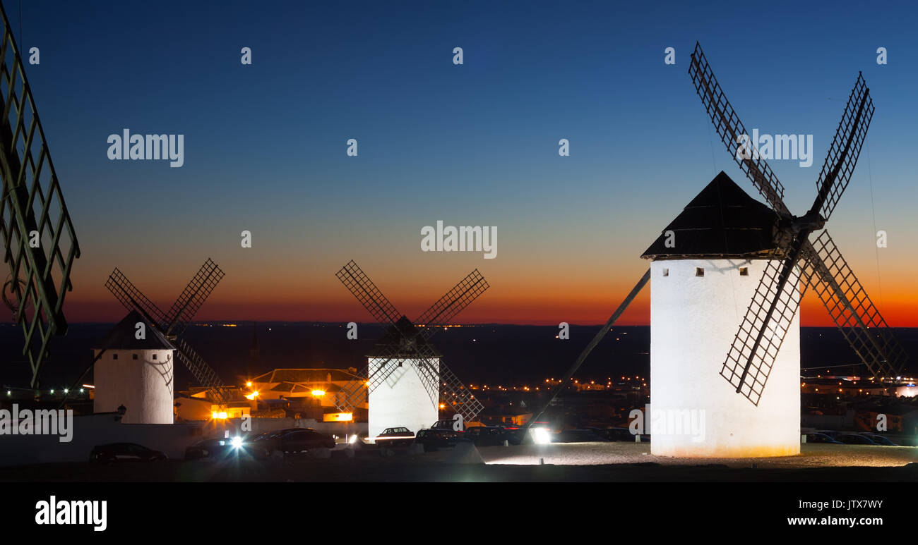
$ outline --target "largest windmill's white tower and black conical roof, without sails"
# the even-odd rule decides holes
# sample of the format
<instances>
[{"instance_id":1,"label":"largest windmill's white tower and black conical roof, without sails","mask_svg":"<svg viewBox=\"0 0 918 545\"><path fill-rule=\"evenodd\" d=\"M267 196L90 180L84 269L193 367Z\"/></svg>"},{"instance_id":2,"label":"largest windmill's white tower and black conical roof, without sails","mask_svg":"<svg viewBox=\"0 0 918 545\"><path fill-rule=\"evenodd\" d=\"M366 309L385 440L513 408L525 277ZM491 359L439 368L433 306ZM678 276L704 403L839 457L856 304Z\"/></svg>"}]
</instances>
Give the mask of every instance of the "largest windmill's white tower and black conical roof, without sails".
<instances>
[{"instance_id":1,"label":"largest windmill's white tower and black conical roof, without sails","mask_svg":"<svg viewBox=\"0 0 918 545\"><path fill-rule=\"evenodd\" d=\"M644 252L653 260L650 407L644 418L653 454L800 453L799 311L761 396L753 396L757 404L736 392L735 376L727 373L734 384L722 376L763 271L781 258L777 220L721 172ZM796 309L800 289L798 277L791 278L785 298Z\"/></svg>"}]
</instances>

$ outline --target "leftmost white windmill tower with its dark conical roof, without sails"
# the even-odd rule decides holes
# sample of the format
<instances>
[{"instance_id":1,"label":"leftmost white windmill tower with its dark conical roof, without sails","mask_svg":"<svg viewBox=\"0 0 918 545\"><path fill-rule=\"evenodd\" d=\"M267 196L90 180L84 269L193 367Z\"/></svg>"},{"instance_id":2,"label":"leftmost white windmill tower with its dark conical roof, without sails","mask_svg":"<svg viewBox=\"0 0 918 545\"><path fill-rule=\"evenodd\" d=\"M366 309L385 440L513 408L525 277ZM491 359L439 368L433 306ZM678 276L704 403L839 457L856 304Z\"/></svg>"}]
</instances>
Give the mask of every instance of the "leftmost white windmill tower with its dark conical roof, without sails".
<instances>
[{"instance_id":1,"label":"leftmost white windmill tower with its dark conical roof, without sails","mask_svg":"<svg viewBox=\"0 0 918 545\"><path fill-rule=\"evenodd\" d=\"M124 424L172 424L173 345L132 311L108 332L94 357L102 351L93 367L95 412L114 412L123 406L127 409L121 419Z\"/></svg>"}]
</instances>

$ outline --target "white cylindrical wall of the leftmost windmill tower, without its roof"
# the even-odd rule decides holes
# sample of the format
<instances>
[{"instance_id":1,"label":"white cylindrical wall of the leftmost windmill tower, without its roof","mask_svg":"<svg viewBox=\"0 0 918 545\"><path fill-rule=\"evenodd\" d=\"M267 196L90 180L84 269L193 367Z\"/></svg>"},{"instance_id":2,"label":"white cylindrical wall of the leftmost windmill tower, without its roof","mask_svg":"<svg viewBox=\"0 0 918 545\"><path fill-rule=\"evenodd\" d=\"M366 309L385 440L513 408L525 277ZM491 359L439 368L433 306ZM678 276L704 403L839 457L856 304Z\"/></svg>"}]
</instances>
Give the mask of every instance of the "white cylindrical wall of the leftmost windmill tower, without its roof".
<instances>
[{"instance_id":1,"label":"white cylindrical wall of the leftmost windmill tower, without its roof","mask_svg":"<svg viewBox=\"0 0 918 545\"><path fill-rule=\"evenodd\" d=\"M98 353L95 350L94 357ZM132 354L138 358L133 359ZM107 350L93 369L95 412L116 411L124 405L128 409L122 420L125 424L173 423L172 350Z\"/></svg>"}]
</instances>

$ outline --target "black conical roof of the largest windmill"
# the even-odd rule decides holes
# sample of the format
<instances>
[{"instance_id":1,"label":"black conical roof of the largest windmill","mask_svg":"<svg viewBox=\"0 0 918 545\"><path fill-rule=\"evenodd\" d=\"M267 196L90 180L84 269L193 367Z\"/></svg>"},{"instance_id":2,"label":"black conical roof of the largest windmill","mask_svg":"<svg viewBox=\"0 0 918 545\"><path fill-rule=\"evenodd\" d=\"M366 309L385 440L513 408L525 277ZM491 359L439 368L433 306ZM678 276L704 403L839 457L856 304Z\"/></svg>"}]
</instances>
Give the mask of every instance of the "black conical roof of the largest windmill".
<instances>
[{"instance_id":1,"label":"black conical roof of the largest windmill","mask_svg":"<svg viewBox=\"0 0 918 545\"><path fill-rule=\"evenodd\" d=\"M666 225L642 257L770 257L775 252L777 226L777 213L750 197L721 171ZM666 231L673 231L675 236L667 237ZM666 247L667 238L673 247Z\"/></svg>"}]
</instances>

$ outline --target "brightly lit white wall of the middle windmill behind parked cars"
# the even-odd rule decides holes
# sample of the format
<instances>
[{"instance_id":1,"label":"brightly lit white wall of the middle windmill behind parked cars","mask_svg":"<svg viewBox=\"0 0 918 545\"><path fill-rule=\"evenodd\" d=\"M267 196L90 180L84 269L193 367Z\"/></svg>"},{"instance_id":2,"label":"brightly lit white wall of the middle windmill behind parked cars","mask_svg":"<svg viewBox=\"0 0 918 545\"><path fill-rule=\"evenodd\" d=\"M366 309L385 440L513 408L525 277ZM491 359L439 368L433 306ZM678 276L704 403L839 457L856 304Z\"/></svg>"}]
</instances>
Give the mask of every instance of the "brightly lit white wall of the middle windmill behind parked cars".
<instances>
[{"instance_id":1,"label":"brightly lit white wall of the middle windmill behind parked cars","mask_svg":"<svg viewBox=\"0 0 918 545\"><path fill-rule=\"evenodd\" d=\"M370 380L385 359L370 358ZM431 360L440 376L440 360ZM393 365L391 362L388 365ZM384 367L384 371L387 366ZM416 366L417 360L402 360L386 382L370 392L369 433L375 437L386 428L404 426L415 433L429 428L440 416L438 403L439 388L434 392L436 400L431 398L424 383L421 382ZM439 386L439 380L438 380Z\"/></svg>"}]
</instances>

